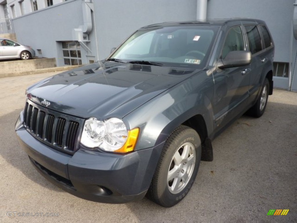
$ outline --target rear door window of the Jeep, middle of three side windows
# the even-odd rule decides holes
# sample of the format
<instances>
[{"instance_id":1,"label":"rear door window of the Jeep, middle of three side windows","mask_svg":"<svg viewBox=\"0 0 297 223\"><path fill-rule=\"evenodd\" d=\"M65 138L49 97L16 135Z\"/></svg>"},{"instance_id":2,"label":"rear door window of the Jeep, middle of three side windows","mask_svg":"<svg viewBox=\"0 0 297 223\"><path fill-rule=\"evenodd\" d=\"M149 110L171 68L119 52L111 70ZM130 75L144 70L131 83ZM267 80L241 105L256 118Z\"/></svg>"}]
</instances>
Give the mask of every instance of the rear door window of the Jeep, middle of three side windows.
<instances>
[{"instance_id":1,"label":"rear door window of the Jeep, middle of three side windows","mask_svg":"<svg viewBox=\"0 0 297 223\"><path fill-rule=\"evenodd\" d=\"M252 54L255 54L262 50L262 42L260 33L257 29L256 25L249 25L244 26L245 32L247 34L247 40L249 43L249 51L252 52Z\"/></svg>"}]
</instances>

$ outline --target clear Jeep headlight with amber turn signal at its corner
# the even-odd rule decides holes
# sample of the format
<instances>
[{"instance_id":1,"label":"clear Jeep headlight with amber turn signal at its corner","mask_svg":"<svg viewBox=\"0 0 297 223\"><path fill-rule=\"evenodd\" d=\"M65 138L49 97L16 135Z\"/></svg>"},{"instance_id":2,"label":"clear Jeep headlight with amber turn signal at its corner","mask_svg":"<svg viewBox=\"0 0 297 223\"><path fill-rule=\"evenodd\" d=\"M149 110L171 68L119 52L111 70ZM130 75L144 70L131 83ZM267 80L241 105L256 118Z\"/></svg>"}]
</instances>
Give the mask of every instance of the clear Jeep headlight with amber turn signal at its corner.
<instances>
[{"instance_id":1,"label":"clear Jeep headlight with amber turn signal at its corner","mask_svg":"<svg viewBox=\"0 0 297 223\"><path fill-rule=\"evenodd\" d=\"M128 131L118 118L99 121L92 117L85 121L80 142L90 148L127 153L134 150L138 134L139 128Z\"/></svg>"}]
</instances>

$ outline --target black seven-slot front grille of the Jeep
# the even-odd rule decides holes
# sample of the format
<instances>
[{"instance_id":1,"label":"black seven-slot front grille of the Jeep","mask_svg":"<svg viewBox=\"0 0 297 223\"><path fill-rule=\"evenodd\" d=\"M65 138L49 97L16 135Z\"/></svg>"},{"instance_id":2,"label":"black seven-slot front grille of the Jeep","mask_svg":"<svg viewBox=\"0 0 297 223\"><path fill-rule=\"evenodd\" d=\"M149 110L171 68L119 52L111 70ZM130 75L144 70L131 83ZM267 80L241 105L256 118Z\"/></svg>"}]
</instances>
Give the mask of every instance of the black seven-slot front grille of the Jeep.
<instances>
[{"instance_id":1,"label":"black seven-slot front grille of the Jeep","mask_svg":"<svg viewBox=\"0 0 297 223\"><path fill-rule=\"evenodd\" d=\"M23 114L27 131L36 139L70 154L77 150L83 119L52 111L29 100Z\"/></svg>"}]
</instances>

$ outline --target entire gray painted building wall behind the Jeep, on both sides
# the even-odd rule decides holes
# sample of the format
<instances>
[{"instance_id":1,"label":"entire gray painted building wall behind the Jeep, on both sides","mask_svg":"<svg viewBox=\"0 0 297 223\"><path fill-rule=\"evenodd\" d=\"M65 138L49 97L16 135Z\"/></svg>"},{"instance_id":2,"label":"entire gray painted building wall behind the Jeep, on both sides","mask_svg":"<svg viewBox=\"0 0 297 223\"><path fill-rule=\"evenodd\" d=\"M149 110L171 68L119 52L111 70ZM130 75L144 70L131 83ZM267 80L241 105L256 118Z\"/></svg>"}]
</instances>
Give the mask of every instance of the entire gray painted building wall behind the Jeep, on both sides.
<instances>
[{"instance_id":1,"label":"entire gray painted building wall behind the Jeep, on both sides","mask_svg":"<svg viewBox=\"0 0 297 223\"><path fill-rule=\"evenodd\" d=\"M83 25L81 0L68 0L12 20L20 43L41 49L42 56L55 57L64 65L59 41L73 40L72 30ZM275 42L275 61L289 62L294 70L292 89L297 90L297 41L292 38L295 0L208 0L207 18L249 17L266 21ZM94 1L91 53L81 48L82 62L104 59L136 29L166 21L195 20L197 0L100 0ZM88 54L88 56L87 56ZM38 54L37 54L38 56ZM276 87L289 87L289 78L274 77Z\"/></svg>"}]
</instances>

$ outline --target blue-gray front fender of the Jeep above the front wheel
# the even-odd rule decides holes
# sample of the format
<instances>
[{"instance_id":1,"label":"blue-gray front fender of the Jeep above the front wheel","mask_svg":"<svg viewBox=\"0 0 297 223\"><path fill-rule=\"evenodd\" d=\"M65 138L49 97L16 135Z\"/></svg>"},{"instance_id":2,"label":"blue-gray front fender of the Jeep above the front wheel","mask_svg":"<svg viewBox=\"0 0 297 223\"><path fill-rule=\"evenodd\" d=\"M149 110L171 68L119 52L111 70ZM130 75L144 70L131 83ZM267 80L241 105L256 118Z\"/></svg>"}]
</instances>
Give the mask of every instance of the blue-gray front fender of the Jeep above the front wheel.
<instances>
[{"instance_id":1,"label":"blue-gray front fender of the Jeep above the front wheel","mask_svg":"<svg viewBox=\"0 0 297 223\"><path fill-rule=\"evenodd\" d=\"M208 136L213 132L214 84L205 71L182 81L129 113L129 128L140 128L135 150L154 147L189 118L201 114Z\"/></svg>"}]
</instances>

